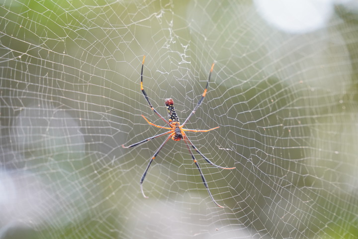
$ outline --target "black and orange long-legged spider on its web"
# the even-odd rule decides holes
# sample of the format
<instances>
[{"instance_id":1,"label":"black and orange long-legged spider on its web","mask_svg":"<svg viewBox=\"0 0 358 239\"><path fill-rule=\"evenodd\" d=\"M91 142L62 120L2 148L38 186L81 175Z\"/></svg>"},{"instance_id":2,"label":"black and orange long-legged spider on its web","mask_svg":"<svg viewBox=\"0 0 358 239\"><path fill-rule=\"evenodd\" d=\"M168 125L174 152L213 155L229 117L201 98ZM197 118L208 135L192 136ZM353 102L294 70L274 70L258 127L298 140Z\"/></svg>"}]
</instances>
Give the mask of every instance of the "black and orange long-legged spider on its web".
<instances>
[{"instance_id":1,"label":"black and orange long-legged spider on its web","mask_svg":"<svg viewBox=\"0 0 358 239\"><path fill-rule=\"evenodd\" d=\"M163 119L164 122L166 122L169 126L160 126L160 125L157 125L157 124L154 124L152 122L150 122L147 118L145 118L143 115L142 117L151 125L153 126L156 126L158 128L164 128L164 129L169 129L169 131L167 132L164 132L164 133L160 133L160 134L157 134L155 136L152 136L152 137L149 137L149 138L146 138L140 142L137 142L137 143L134 143L134 144L131 144L129 146L124 146L124 144L122 144L122 147L123 148L131 148L131 147L135 147L141 143L144 143L144 142L147 142L151 139L154 139L154 138L158 138L160 136L163 136L163 135L166 135L166 134L169 134L169 136L164 140L164 142L162 143L162 145L157 149L157 151L154 153L154 155L152 156L152 158L150 159L149 163L148 163L148 166L146 168L146 170L144 171L143 173L143 176L140 180L140 187L141 187L141 191L142 191L142 194L143 194L143 197L144 198L148 198L145 194L144 194L144 191L143 191L143 181L144 181L144 178L145 176L147 175L147 172L148 172L148 169L150 167L150 165L152 164L153 160L157 157L157 155L159 154L159 152L161 151L161 149L164 147L164 145L169 141L169 139L173 139L175 141L179 141L179 140L184 140L185 142L185 145L187 147L187 149L189 150L189 153L191 155L191 158L193 159L197 169L199 170L199 173L200 173L200 176L201 176L201 179L210 195L210 198L212 199L212 201L219 207L223 208L223 206L220 206L213 198L213 196L211 195L211 192L209 190L209 187L207 185L207 182L205 180L205 177L199 167L199 164L198 162L196 161L195 157L194 157L194 154L192 153L191 149L190 149L190 146L198 153L200 154L200 156L202 156L206 162L208 162L209 164L215 166L215 167L218 167L218 168L222 168L222 169L234 169L236 167L232 167L232 168L226 168L226 167L221 167L221 166L218 166L218 165L215 165L213 162L211 162L207 157L205 157L204 154L202 154L198 149L197 147L194 146L194 144L190 141L190 139L186 136L186 133L185 132L207 132L207 131L210 131L210 130L213 130L213 129L216 129L218 128L219 126L217 127L214 127L214 128L210 128L210 129L187 129L187 128L183 128L184 124L190 119L190 117L195 113L195 111L199 108L199 106L201 105L201 102L203 101L205 95L206 95L206 91L207 91L207 88L209 86L209 81L210 81L210 76L211 76L211 72L213 71L213 68L214 68L214 63L212 64L211 66L211 69L210 69L210 73L209 73L209 77L208 77L208 81L206 83L206 87L204 89L204 93L201 95L201 99L199 100L199 102L197 103L197 105L195 106L194 110L189 114L189 116L184 120L184 122L182 124L179 123L179 118L175 112L175 109L174 109L174 101L172 98L169 98L169 99L166 99L165 100L165 105L167 107L167 110L168 110L168 114L169 114L169 119L165 119L163 116L161 116L155 109L154 107L152 106L152 104L150 103L149 101L149 97L147 95L147 93L144 91L144 88L143 88L143 66L144 66L144 59L145 59L145 56L143 56L143 61L142 61L142 71L141 71L141 91L145 97L145 99L147 100L148 104L149 104L149 107L151 108L151 110L157 114L159 116L160 119ZM190 146L189 146L190 145Z\"/></svg>"}]
</instances>

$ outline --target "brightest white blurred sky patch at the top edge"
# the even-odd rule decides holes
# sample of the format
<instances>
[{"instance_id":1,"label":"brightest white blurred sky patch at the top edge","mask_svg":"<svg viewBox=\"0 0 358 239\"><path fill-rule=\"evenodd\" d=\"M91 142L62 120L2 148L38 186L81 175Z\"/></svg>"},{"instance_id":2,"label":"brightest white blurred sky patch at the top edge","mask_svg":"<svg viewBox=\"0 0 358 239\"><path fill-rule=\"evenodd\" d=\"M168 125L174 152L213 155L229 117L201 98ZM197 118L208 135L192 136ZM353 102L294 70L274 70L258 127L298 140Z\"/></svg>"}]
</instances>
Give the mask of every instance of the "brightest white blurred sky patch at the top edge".
<instances>
[{"instance_id":1,"label":"brightest white blurred sky patch at the top edge","mask_svg":"<svg viewBox=\"0 0 358 239\"><path fill-rule=\"evenodd\" d=\"M325 27L334 10L332 0L254 0L254 3L265 20L291 33Z\"/></svg>"}]
</instances>

